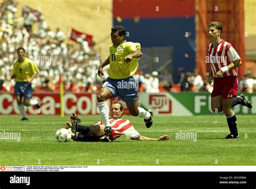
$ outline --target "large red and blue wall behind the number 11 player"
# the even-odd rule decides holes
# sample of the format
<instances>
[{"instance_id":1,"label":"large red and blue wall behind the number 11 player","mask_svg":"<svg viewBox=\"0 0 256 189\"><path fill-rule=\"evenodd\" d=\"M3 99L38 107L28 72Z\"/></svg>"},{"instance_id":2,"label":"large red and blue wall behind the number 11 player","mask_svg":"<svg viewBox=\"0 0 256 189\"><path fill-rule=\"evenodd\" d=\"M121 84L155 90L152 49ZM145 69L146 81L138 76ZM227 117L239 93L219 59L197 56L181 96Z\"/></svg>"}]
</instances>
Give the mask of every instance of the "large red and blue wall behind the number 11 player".
<instances>
[{"instance_id":1,"label":"large red and blue wall behind the number 11 player","mask_svg":"<svg viewBox=\"0 0 256 189\"><path fill-rule=\"evenodd\" d=\"M194 0L113 0L113 25L124 26L126 40L140 43L142 53L143 47L173 47L174 82L179 67L189 72L196 67L194 17Z\"/></svg>"}]
</instances>

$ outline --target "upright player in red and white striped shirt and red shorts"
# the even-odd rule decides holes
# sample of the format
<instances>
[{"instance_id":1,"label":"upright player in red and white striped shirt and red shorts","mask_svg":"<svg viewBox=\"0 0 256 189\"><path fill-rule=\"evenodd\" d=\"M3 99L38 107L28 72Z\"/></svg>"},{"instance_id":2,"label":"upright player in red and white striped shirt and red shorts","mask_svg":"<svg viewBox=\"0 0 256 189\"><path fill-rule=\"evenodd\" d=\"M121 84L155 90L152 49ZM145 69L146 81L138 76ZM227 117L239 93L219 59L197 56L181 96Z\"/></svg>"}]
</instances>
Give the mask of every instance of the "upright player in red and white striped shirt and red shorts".
<instances>
[{"instance_id":1,"label":"upright player in red and white striped shirt and red shorts","mask_svg":"<svg viewBox=\"0 0 256 189\"><path fill-rule=\"evenodd\" d=\"M237 73L238 67L241 66L242 62L233 46L220 39L222 30L223 26L218 22L211 22L208 25L212 43L208 46L208 61L206 61L206 63L211 64L211 71L207 82L211 84L213 76L211 108L216 114L224 111L227 117L228 128L231 132L226 138L238 138L237 117L232 107L241 104L242 106L252 108L252 104L245 99L244 95L237 96Z\"/></svg>"}]
</instances>

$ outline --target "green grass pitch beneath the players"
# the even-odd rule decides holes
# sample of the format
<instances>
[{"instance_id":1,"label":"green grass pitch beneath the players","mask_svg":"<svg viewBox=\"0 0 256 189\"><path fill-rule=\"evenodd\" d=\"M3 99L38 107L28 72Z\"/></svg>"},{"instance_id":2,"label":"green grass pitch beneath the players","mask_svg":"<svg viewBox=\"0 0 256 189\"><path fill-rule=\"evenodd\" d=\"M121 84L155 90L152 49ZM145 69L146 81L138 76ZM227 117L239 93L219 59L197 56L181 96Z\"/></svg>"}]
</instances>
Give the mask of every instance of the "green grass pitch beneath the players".
<instances>
[{"instance_id":1,"label":"green grass pitch beneath the players","mask_svg":"<svg viewBox=\"0 0 256 189\"><path fill-rule=\"evenodd\" d=\"M95 124L99 116L80 116ZM125 136L111 143L55 141L69 116L0 116L0 132L21 132L21 141L0 139L0 165L256 165L256 116L237 115L238 139L229 133L224 115L156 117L147 129L143 119L124 116L147 137L170 135L169 141L132 141ZM197 140L176 139L193 132Z\"/></svg>"}]
</instances>

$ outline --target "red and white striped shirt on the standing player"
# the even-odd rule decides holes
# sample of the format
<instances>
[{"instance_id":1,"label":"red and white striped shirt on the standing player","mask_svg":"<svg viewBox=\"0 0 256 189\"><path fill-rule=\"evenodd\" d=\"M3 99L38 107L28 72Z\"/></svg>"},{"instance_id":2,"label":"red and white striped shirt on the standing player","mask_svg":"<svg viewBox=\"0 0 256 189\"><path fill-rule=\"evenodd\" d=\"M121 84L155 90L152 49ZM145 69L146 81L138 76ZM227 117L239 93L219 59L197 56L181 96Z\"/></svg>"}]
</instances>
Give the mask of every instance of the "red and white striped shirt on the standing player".
<instances>
[{"instance_id":1,"label":"red and white striped shirt on the standing player","mask_svg":"<svg viewBox=\"0 0 256 189\"><path fill-rule=\"evenodd\" d=\"M220 68L231 64L235 60L241 60L233 46L223 39L215 46L212 43L208 46L207 59L206 63L211 63L213 77L215 77ZM224 77L229 75L237 75L237 68L223 74Z\"/></svg>"}]
</instances>

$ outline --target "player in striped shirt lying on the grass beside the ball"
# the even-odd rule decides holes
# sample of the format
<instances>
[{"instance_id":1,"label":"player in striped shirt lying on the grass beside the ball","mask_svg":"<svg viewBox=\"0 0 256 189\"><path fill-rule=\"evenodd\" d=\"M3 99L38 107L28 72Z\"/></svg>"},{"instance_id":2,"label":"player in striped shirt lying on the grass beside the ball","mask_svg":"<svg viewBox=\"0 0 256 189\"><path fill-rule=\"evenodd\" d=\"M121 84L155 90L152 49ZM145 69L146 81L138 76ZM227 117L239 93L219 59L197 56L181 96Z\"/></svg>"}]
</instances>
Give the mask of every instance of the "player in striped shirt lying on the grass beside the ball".
<instances>
[{"instance_id":1,"label":"player in striped shirt lying on the grass beside the ball","mask_svg":"<svg viewBox=\"0 0 256 189\"><path fill-rule=\"evenodd\" d=\"M104 123L103 121L98 122L96 125L79 125L81 121L76 116L76 114L71 115L71 122L65 122L66 129L71 131L71 138L74 141L114 141L121 135L126 135L127 137L138 140L138 141L166 141L170 139L170 136L164 135L159 138L148 138L139 134L129 120L122 119L122 114L124 112L123 104L114 101L111 106L111 119L110 131L111 134L105 136Z\"/></svg>"}]
</instances>

